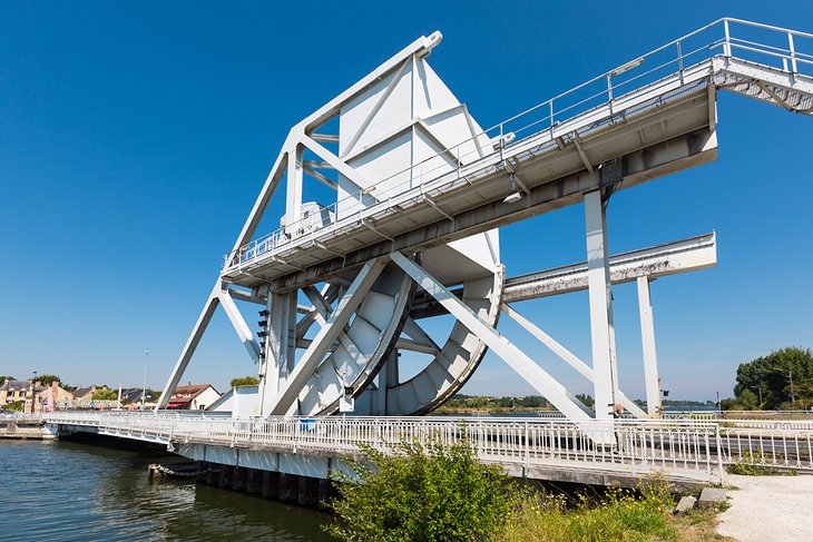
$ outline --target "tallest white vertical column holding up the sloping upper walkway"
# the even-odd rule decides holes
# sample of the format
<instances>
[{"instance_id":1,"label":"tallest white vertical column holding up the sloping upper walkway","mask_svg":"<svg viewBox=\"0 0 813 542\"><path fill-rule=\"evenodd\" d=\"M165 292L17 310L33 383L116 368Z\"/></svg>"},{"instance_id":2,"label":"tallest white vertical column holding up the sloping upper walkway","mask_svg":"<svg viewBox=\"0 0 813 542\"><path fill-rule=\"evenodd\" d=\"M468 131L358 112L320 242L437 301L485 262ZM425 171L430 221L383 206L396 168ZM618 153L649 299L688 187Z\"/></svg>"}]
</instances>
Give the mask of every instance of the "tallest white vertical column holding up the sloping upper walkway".
<instances>
[{"instance_id":1,"label":"tallest white vertical column holding up the sloping upper walkway","mask_svg":"<svg viewBox=\"0 0 813 542\"><path fill-rule=\"evenodd\" d=\"M613 327L613 292L609 279L607 216L601 190L585 194L585 218L596 418L609 420L618 403L618 376Z\"/></svg>"}]
</instances>

